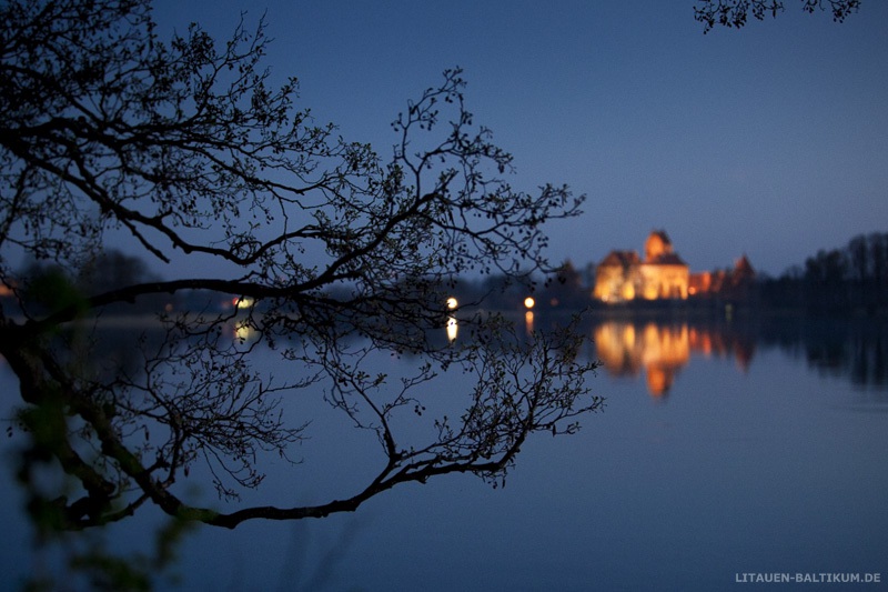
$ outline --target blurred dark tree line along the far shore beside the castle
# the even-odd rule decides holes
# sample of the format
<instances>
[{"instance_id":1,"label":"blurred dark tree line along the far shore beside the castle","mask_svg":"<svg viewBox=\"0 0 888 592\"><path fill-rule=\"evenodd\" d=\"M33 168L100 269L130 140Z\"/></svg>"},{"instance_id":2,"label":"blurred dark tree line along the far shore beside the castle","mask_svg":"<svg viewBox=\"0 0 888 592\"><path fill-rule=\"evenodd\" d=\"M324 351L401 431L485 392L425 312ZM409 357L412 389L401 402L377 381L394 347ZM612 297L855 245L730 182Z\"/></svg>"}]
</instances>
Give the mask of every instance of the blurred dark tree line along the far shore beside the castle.
<instances>
[{"instance_id":1,"label":"blurred dark tree line along the far shore beside the castle","mask_svg":"<svg viewBox=\"0 0 888 592\"><path fill-rule=\"evenodd\" d=\"M69 277L70 275L70 277ZM138 258L109 251L77 274L58 265L31 262L22 269L31 293L42 293L36 300L49 309L70 303L78 293L97 293L134 281L157 281ZM485 308L498 311L524 311L525 300L533 299L536 311L576 311L606 308L592 298L594 269L577 270L568 260L544 278L516 282L505 275L487 275L471 280L450 280L450 292L461 308ZM232 299L200 291L178 294L176 298L154 297L140 302L137 310L157 311L232 307ZM213 298L215 300L213 300ZM674 304L674 303L673 303ZM872 232L852 238L845 247L821 249L803 264L788 268L779 277L760 274L748 290L729 295L689 299L690 308L720 309L725 304L755 310L779 310L809 314L880 314L888 310L888 232ZM132 308L130 312L132 312Z\"/></svg>"}]
</instances>

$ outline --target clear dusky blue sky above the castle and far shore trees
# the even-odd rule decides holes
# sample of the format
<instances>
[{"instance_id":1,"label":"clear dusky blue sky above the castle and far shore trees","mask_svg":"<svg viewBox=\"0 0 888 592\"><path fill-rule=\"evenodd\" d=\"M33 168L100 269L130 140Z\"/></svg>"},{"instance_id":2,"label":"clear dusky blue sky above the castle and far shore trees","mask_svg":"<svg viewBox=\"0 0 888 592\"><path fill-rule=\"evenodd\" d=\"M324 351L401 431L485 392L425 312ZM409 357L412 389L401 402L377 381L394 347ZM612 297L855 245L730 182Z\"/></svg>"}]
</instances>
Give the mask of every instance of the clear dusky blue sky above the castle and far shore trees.
<instances>
[{"instance_id":1,"label":"clear dusky blue sky above the castle and far shore trees","mask_svg":"<svg viewBox=\"0 0 888 592\"><path fill-rule=\"evenodd\" d=\"M746 253L776 275L888 231L888 2L841 24L785 3L705 36L693 0L158 0L155 17L224 38L265 12L273 74L384 157L407 99L462 67L513 184L588 195L551 227L554 261L642 252L664 229L692 270Z\"/></svg>"}]
</instances>

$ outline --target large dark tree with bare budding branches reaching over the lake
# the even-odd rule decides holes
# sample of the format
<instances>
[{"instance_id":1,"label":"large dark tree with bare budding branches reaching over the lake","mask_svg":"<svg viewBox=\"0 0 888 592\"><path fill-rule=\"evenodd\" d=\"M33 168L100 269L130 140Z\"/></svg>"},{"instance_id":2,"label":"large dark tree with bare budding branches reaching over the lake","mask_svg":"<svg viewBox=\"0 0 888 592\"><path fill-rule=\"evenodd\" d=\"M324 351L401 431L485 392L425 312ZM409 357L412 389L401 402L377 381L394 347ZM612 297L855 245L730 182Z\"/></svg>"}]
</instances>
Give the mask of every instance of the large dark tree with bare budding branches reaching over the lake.
<instances>
[{"instance_id":1,"label":"large dark tree with bare budding branches reaching over the lake","mask_svg":"<svg viewBox=\"0 0 888 592\"><path fill-rule=\"evenodd\" d=\"M10 1L0 19L0 278L23 314L0 312L0 353L20 381L31 455L20 480L42 524L90 529L153 504L234 528L352 511L441 474L496 483L531 434L572 433L601 407L569 331L518 340L495 317L463 315L467 339L428 337L460 313L445 303L457 274L548 271L542 227L583 201L566 187L509 187L512 157L474 124L458 69L397 117L385 161L296 109L295 79L270 86L262 22L216 43L196 24L165 42L147 0ZM145 279L108 254L109 230L157 262L184 258L194 275ZM92 280L53 275L65 293L56 298L56 284L16 277L13 254L93 270ZM206 277L206 261L230 272ZM109 267L113 281L98 272ZM74 360L71 340L57 338L70 327L98 348L103 318L72 321L151 294L240 307L160 315L160 339L135 342L138 373L98 372L89 352ZM251 340L232 339L232 324ZM294 378L254 367L260 349ZM390 379L365 370L377 351L422 361L412 378ZM476 378L463 411L437 418L424 439L402 432L448 367ZM263 455L290 458L311 420L283 414L292 391L317 393L377 437L364 486L311 505L186 503L181 482L195 463L236 501L262 482ZM63 491L37 486L38 464L67 475Z\"/></svg>"}]
</instances>

